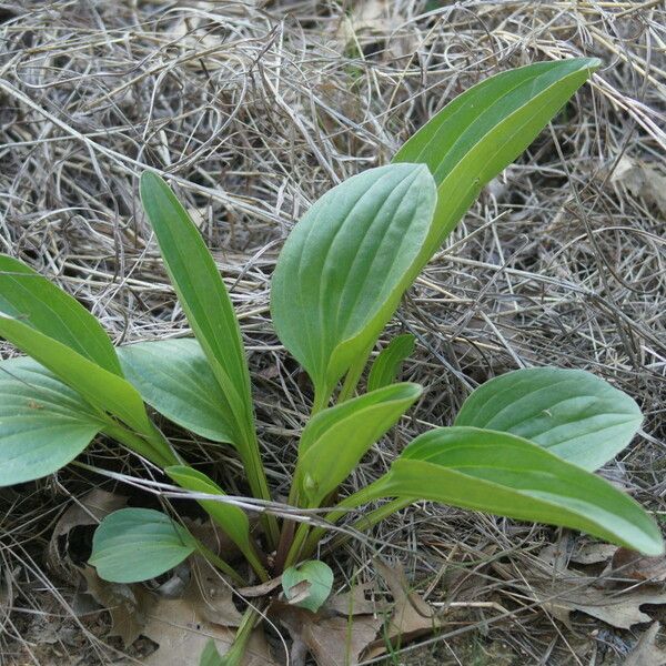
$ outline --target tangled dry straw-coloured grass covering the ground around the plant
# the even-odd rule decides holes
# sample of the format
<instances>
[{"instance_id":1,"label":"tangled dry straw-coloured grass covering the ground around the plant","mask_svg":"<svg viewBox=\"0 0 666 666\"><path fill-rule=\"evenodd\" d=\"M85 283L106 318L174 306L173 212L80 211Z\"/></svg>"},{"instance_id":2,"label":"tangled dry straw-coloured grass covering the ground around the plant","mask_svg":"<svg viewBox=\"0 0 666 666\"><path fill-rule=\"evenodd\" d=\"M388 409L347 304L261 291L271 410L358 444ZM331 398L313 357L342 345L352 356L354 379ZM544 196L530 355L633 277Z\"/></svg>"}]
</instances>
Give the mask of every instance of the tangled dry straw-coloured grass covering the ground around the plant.
<instances>
[{"instance_id":1,"label":"tangled dry straw-coloured grass covering the ground around the plant","mask_svg":"<svg viewBox=\"0 0 666 666\"><path fill-rule=\"evenodd\" d=\"M592 370L640 402L644 431L604 473L664 511L663 3L361 4L0 2L2 252L75 294L119 344L185 334L137 195L142 169L164 173L200 223L241 313L279 496L307 406L268 315L271 271L291 226L332 185L385 163L482 78L536 60L601 57L605 67L592 85L486 188L410 292L390 333L417 336L405 374L427 392L351 483L374 478L414 433L448 423L478 382L557 364ZM614 178L627 159L633 180ZM87 460L138 473L129 458L111 457L100 446ZM70 591L43 572L41 553L58 512L91 483L68 472L0 495L0 607L13 598L13 612L0 613L8 659L21 640L23 654L37 655L21 627L46 613L40 591L60 599L54 614L68 610ZM425 587L443 568L491 557L519 571L554 534L422 506L342 553L340 573L370 576L377 553L400 556ZM474 630L478 654L490 649L492 660L610 664L634 640L588 619L565 632L492 569L484 576L468 598L508 604L511 615L477 608L452 630ZM435 585L432 598L443 595ZM97 650L84 663L101 660L94 636L83 627L81 635ZM596 657L575 647L581 635ZM433 663L485 663L467 648L444 635L395 663L427 663L433 650ZM62 649L75 656L79 648Z\"/></svg>"}]
</instances>

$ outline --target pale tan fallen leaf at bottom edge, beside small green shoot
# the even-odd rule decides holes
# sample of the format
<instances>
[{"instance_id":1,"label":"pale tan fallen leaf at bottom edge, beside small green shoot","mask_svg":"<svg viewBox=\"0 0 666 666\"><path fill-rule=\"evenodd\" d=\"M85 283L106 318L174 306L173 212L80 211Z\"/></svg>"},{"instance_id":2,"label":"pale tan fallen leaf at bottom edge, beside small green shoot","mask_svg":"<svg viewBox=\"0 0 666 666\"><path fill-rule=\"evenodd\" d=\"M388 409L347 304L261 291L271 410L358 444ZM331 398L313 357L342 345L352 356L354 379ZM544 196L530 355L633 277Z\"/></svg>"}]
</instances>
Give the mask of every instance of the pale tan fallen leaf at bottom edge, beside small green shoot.
<instances>
[{"instance_id":1,"label":"pale tan fallen leaf at bottom edge, beside small green shoot","mask_svg":"<svg viewBox=\"0 0 666 666\"><path fill-rule=\"evenodd\" d=\"M143 635L158 644L145 666L185 666L199 664L212 638L220 655L230 648L235 630L206 622L184 599L161 599L153 608ZM253 632L242 666L279 666L261 628Z\"/></svg>"}]
</instances>

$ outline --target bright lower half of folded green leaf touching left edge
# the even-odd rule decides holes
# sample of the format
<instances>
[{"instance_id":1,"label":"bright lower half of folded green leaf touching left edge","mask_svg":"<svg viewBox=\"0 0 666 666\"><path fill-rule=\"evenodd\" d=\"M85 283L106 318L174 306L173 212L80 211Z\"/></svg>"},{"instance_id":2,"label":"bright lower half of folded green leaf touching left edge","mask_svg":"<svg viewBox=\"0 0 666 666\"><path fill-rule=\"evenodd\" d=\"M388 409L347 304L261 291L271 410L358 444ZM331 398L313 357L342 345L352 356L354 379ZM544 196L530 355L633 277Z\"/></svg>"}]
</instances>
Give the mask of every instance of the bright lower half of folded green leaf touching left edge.
<instances>
[{"instance_id":1,"label":"bright lower half of folded green leaf touching left edge","mask_svg":"<svg viewBox=\"0 0 666 666\"><path fill-rule=\"evenodd\" d=\"M158 446L157 431L145 413L143 401L129 382L61 342L4 314L0 314L0 335L50 370L91 405L117 416L150 440L153 447ZM157 464L176 462L167 444L160 445L153 453Z\"/></svg>"}]
</instances>

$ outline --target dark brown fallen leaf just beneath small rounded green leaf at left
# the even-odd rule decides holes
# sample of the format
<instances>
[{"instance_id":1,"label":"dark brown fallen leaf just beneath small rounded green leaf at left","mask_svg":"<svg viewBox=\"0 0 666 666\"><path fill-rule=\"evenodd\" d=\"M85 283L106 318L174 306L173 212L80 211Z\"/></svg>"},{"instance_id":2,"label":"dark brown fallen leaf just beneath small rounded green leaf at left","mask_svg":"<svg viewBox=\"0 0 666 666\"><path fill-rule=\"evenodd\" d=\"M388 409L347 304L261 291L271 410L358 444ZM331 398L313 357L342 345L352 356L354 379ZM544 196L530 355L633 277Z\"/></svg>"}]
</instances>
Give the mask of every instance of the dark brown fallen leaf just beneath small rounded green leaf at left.
<instances>
[{"instance_id":1,"label":"dark brown fallen leaf just beneath small rounded green leaf at left","mask_svg":"<svg viewBox=\"0 0 666 666\"><path fill-rule=\"evenodd\" d=\"M79 571L88 586L85 593L111 615L109 636L120 636L125 647L134 643L157 602L155 596L140 583L125 585L102 581L90 565Z\"/></svg>"}]
</instances>

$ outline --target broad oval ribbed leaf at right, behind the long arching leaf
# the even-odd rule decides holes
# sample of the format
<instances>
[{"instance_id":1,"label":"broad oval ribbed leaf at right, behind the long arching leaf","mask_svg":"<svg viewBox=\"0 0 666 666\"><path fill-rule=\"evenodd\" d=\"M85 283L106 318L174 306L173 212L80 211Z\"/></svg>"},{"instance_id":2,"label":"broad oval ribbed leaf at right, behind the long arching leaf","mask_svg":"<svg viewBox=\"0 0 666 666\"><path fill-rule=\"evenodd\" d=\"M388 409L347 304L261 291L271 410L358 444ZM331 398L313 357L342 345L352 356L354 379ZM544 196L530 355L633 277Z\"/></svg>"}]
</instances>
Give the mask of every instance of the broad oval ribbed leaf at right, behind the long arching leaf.
<instances>
[{"instance_id":1,"label":"broad oval ribbed leaf at right, behind the long arching leaf","mask_svg":"<svg viewBox=\"0 0 666 666\"><path fill-rule=\"evenodd\" d=\"M455 425L512 433L594 471L629 444L642 421L626 393L588 372L531 367L476 389Z\"/></svg>"}]
</instances>

